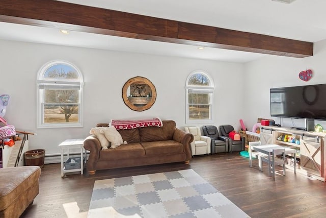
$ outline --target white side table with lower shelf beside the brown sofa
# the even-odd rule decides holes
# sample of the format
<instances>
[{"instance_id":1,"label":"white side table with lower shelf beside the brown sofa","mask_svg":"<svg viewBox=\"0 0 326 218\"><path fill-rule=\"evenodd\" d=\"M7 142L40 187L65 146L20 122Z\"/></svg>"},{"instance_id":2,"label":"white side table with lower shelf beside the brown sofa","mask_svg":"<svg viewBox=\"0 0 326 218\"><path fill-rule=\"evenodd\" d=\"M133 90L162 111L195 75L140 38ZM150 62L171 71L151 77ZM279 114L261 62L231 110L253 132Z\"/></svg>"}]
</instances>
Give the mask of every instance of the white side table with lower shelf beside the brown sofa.
<instances>
[{"instance_id":1,"label":"white side table with lower shelf beside the brown sofa","mask_svg":"<svg viewBox=\"0 0 326 218\"><path fill-rule=\"evenodd\" d=\"M67 139L64 142L59 144L61 151L61 177L64 177L66 173L71 172L79 172L83 174L84 171L84 138L77 139ZM64 169L64 161L63 161L63 152L67 150L67 159L69 158L69 149L80 149L80 168L77 169Z\"/></svg>"}]
</instances>

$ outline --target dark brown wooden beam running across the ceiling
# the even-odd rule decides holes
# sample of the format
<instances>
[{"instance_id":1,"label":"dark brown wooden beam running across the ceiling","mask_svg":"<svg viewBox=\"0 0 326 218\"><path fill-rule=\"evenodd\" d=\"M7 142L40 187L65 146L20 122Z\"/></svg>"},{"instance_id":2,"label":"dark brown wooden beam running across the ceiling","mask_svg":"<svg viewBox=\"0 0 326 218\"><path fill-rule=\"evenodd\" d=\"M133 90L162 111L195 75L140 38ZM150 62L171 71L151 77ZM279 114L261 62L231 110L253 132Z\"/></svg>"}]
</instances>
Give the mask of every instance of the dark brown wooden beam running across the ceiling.
<instances>
[{"instance_id":1,"label":"dark brown wooden beam running across the ceiling","mask_svg":"<svg viewBox=\"0 0 326 218\"><path fill-rule=\"evenodd\" d=\"M313 43L53 0L1 0L0 21L303 58Z\"/></svg>"}]
</instances>

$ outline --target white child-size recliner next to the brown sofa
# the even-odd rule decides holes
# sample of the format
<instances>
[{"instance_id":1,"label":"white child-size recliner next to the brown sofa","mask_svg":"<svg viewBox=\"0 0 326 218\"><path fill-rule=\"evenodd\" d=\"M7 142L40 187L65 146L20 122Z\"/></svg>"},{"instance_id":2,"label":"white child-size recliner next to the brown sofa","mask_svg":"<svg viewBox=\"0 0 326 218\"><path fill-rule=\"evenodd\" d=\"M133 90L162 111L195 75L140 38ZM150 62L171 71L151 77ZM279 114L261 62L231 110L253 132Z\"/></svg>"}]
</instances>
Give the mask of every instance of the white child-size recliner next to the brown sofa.
<instances>
[{"instance_id":1,"label":"white child-size recliner next to the brown sofa","mask_svg":"<svg viewBox=\"0 0 326 218\"><path fill-rule=\"evenodd\" d=\"M190 143L193 155L210 154L210 137L201 135L199 127L185 127L184 130L194 135Z\"/></svg>"}]
</instances>

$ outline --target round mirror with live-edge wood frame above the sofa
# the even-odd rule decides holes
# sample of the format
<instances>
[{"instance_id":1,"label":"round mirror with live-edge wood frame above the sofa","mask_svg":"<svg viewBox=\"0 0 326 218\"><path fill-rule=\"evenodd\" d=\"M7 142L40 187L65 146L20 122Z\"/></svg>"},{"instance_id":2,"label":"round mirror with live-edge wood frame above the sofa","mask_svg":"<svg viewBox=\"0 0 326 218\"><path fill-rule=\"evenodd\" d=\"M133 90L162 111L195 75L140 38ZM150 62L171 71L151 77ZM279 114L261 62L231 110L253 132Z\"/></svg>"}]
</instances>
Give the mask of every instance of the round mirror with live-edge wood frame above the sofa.
<instances>
[{"instance_id":1,"label":"round mirror with live-edge wood frame above the sofa","mask_svg":"<svg viewBox=\"0 0 326 218\"><path fill-rule=\"evenodd\" d=\"M155 103L155 86L145 77L131 78L122 88L122 99L131 110L147 110Z\"/></svg>"}]
</instances>

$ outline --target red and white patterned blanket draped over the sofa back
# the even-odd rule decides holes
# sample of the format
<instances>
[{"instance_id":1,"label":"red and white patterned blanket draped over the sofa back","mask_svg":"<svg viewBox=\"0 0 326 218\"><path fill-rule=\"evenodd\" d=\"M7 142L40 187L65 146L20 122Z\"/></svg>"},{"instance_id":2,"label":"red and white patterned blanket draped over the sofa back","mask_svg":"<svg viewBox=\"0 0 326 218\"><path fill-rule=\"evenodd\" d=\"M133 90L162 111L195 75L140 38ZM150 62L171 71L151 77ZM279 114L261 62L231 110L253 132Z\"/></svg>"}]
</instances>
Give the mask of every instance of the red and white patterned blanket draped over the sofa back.
<instances>
[{"instance_id":1,"label":"red and white patterned blanket draped over the sofa back","mask_svg":"<svg viewBox=\"0 0 326 218\"><path fill-rule=\"evenodd\" d=\"M162 127L163 123L160 118L141 119L141 120L115 120L112 119L110 127L115 127L117 130L135 129L141 127Z\"/></svg>"}]
</instances>

